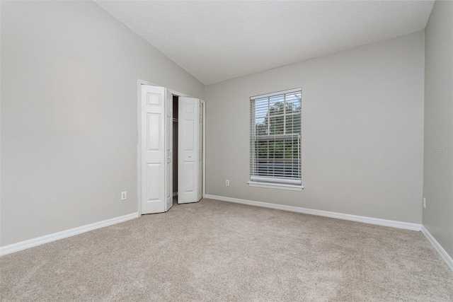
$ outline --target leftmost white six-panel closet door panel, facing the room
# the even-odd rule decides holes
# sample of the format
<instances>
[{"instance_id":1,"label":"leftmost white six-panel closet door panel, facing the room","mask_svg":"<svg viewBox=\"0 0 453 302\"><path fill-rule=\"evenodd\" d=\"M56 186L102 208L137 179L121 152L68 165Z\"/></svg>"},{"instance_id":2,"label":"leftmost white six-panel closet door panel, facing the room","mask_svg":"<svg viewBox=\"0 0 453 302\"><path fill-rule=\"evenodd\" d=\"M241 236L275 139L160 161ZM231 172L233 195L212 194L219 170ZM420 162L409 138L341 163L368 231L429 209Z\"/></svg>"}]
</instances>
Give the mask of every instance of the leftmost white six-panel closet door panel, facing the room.
<instances>
[{"instance_id":1,"label":"leftmost white six-panel closet door panel, facing the room","mask_svg":"<svg viewBox=\"0 0 453 302\"><path fill-rule=\"evenodd\" d=\"M165 88L142 85L142 214L165 211Z\"/></svg>"}]
</instances>

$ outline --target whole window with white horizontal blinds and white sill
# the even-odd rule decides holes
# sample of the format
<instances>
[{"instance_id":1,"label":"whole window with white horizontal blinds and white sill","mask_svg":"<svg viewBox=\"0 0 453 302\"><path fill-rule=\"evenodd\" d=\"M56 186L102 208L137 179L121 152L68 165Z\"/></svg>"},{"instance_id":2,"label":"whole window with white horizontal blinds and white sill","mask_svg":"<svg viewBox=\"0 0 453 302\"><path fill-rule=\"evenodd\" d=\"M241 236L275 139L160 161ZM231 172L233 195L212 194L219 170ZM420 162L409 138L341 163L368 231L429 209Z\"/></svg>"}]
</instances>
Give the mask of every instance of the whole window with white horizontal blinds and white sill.
<instances>
[{"instance_id":1,"label":"whole window with white horizontal blinds and white sill","mask_svg":"<svg viewBox=\"0 0 453 302\"><path fill-rule=\"evenodd\" d=\"M249 185L302 189L302 89L250 98Z\"/></svg>"}]
</instances>

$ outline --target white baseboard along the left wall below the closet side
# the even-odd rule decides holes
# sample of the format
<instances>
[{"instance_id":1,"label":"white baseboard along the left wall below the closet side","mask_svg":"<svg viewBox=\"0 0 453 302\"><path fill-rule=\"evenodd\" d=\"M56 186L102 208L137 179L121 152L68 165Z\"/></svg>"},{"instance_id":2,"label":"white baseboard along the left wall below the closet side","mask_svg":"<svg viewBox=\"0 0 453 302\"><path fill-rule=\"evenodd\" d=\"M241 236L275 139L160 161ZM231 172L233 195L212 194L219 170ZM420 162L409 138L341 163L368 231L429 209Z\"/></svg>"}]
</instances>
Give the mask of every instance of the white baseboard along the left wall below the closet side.
<instances>
[{"instance_id":1,"label":"white baseboard along the left wall below the closet side","mask_svg":"<svg viewBox=\"0 0 453 302\"><path fill-rule=\"evenodd\" d=\"M44 243L50 243L52 241L56 241L59 239L79 235L81 233L85 233L88 231L93 231L93 230L96 230L96 228L104 228L105 226L111 226L116 223L120 223L120 222L124 222L124 221L128 221L128 220L137 218L138 216L139 216L139 213L135 212L132 214L127 214L124 216L119 216L119 217L107 219L104 221L90 223L90 224L87 224L86 226L70 228L69 230L66 230L66 231L61 231L58 233L53 233L53 234L41 236L38 238L33 238L30 240L25 240L25 241L13 243L10 245L5 245L3 247L0 247L0 256L11 254L11 252L18 252L19 250L25 250L27 248L33 248L35 246L42 245Z\"/></svg>"}]
</instances>

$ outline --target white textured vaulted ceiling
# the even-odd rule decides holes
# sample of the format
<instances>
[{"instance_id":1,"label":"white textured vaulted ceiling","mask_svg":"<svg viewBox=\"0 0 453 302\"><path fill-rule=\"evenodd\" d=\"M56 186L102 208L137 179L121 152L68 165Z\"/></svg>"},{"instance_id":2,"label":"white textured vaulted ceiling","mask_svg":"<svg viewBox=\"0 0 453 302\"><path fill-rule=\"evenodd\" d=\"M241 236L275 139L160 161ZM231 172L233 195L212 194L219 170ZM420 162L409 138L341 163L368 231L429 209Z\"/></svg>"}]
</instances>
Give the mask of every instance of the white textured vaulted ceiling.
<instances>
[{"instance_id":1,"label":"white textured vaulted ceiling","mask_svg":"<svg viewBox=\"0 0 453 302\"><path fill-rule=\"evenodd\" d=\"M96 1L210 84L425 28L433 1Z\"/></svg>"}]
</instances>

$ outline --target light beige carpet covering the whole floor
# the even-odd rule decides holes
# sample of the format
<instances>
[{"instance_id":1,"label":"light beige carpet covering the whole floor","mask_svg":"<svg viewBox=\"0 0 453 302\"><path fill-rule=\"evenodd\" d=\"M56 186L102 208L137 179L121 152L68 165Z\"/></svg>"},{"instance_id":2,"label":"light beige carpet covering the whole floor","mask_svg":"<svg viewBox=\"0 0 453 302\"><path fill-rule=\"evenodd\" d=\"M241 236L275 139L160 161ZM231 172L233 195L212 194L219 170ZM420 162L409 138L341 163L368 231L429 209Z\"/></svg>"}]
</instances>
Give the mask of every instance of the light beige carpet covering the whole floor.
<instances>
[{"instance_id":1,"label":"light beige carpet covering the whole floor","mask_svg":"<svg viewBox=\"0 0 453 302\"><path fill-rule=\"evenodd\" d=\"M210 199L0 265L1 301L453 301L420 232Z\"/></svg>"}]
</instances>

